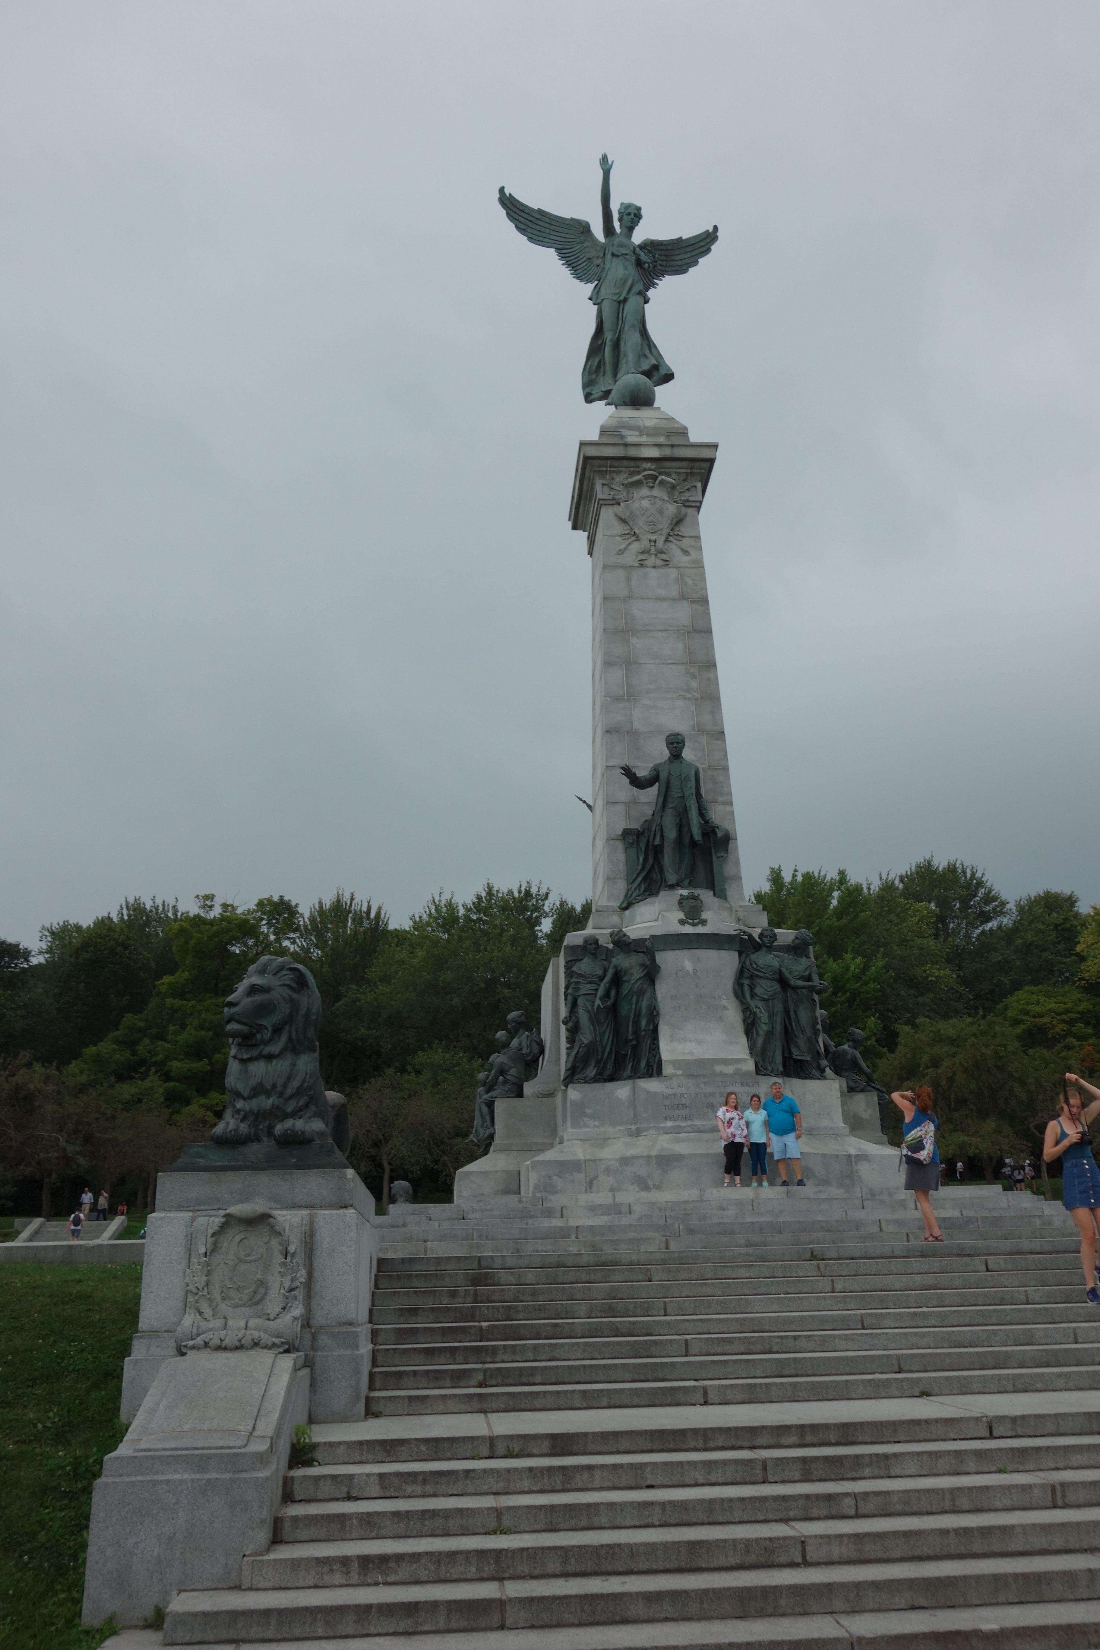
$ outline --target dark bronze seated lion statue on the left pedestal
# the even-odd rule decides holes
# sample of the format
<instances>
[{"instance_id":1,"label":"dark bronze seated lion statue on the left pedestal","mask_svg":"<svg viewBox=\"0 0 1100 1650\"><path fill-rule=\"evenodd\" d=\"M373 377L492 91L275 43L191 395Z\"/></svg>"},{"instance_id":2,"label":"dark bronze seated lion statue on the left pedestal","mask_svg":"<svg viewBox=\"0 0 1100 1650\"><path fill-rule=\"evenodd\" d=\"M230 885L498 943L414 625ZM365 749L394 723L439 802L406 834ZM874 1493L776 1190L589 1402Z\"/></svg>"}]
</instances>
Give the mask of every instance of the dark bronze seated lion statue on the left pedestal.
<instances>
[{"instance_id":1,"label":"dark bronze seated lion statue on the left pedestal","mask_svg":"<svg viewBox=\"0 0 1100 1650\"><path fill-rule=\"evenodd\" d=\"M322 1082L317 1026L322 998L313 975L290 957L261 957L226 997L226 1110L216 1145L333 1140L346 1152L348 1107Z\"/></svg>"}]
</instances>

